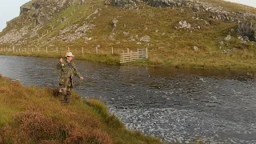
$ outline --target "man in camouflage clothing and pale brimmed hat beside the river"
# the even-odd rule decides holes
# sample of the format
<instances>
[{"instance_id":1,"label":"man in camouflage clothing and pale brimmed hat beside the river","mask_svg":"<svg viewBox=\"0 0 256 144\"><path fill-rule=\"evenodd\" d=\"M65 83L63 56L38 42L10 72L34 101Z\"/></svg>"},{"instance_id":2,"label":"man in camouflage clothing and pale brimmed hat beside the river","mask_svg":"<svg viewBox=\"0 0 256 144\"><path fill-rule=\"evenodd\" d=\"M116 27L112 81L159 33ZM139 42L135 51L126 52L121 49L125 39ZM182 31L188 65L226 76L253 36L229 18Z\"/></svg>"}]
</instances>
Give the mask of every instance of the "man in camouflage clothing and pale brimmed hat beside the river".
<instances>
[{"instance_id":1,"label":"man in camouflage clothing and pale brimmed hat beside the river","mask_svg":"<svg viewBox=\"0 0 256 144\"><path fill-rule=\"evenodd\" d=\"M78 72L74 62L74 55L71 52L66 53L66 59L63 61L62 58L59 59L57 64L57 69L61 70L61 76L59 78L59 92L64 97L64 103L70 104L71 90L74 86L74 76L83 80L83 77Z\"/></svg>"}]
</instances>

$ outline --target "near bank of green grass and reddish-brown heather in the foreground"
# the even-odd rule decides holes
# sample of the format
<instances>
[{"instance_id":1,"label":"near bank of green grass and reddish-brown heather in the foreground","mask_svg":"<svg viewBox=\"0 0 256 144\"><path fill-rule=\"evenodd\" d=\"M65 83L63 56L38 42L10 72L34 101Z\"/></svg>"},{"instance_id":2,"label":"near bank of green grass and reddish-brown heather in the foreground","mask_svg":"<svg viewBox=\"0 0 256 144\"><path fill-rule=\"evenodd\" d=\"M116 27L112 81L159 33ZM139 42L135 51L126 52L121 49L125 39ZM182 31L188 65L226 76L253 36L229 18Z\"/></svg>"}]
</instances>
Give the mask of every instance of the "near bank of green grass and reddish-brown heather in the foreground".
<instances>
[{"instance_id":1,"label":"near bank of green grass and reddish-brown heather in the foreground","mask_svg":"<svg viewBox=\"0 0 256 144\"><path fill-rule=\"evenodd\" d=\"M126 130L98 100L73 94L63 106L56 90L22 86L0 76L0 143L162 143Z\"/></svg>"}]
</instances>

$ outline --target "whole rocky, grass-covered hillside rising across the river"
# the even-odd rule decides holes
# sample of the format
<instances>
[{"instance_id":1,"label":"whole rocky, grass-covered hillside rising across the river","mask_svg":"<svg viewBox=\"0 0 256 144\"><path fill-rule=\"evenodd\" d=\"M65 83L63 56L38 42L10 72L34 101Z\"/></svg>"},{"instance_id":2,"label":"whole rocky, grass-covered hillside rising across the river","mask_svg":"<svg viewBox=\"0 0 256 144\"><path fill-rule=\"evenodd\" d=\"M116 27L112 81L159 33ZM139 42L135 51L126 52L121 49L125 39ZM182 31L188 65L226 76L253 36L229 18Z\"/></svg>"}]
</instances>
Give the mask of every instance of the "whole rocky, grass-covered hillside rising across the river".
<instances>
[{"instance_id":1,"label":"whole rocky, grass-covered hillside rising across the river","mask_svg":"<svg viewBox=\"0 0 256 144\"><path fill-rule=\"evenodd\" d=\"M0 54L59 57L70 48L118 64L123 50L147 47L149 58L131 64L256 70L255 19L256 9L222 0L34 0L7 22Z\"/></svg>"}]
</instances>

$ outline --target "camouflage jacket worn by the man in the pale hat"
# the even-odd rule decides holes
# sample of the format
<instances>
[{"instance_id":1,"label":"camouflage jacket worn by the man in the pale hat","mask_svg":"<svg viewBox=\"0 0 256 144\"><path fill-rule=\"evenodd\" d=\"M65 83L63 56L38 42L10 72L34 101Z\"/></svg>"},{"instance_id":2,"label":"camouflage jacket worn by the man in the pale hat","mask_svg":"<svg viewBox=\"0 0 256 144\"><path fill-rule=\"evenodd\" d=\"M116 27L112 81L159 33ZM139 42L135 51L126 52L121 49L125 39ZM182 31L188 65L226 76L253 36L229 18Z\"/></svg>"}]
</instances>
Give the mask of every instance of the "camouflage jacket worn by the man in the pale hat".
<instances>
[{"instance_id":1,"label":"camouflage jacket worn by the man in the pale hat","mask_svg":"<svg viewBox=\"0 0 256 144\"><path fill-rule=\"evenodd\" d=\"M74 62L68 62L66 59L63 62L58 62L57 69L61 70L61 76L59 78L59 84L62 86L74 86L74 76L78 78L81 74L78 72Z\"/></svg>"}]
</instances>

